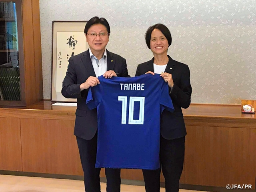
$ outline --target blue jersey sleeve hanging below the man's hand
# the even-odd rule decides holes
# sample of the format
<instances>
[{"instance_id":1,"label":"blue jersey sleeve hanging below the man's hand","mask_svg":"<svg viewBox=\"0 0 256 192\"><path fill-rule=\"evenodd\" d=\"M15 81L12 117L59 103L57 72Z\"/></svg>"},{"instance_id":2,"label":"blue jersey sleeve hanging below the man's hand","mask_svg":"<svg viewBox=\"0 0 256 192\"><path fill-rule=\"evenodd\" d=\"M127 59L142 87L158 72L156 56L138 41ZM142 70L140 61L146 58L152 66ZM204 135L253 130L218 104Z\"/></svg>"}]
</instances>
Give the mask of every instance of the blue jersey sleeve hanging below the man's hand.
<instances>
[{"instance_id":1,"label":"blue jersey sleeve hanging below the man's hand","mask_svg":"<svg viewBox=\"0 0 256 192\"><path fill-rule=\"evenodd\" d=\"M90 110L97 108L102 100L103 78L101 77L102 76L98 78L100 80L100 84L89 88L86 105Z\"/></svg>"}]
</instances>

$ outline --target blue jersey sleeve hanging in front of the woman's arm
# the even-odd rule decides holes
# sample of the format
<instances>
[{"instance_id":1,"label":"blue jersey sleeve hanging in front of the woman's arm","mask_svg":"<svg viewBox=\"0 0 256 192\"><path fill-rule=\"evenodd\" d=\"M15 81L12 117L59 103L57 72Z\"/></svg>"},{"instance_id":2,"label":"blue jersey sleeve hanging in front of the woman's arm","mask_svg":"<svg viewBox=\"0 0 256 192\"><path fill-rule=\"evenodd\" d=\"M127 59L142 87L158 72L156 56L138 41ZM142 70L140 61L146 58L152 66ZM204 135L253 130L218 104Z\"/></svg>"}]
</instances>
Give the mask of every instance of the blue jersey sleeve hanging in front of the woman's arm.
<instances>
[{"instance_id":1,"label":"blue jersey sleeve hanging in front of the woman's arm","mask_svg":"<svg viewBox=\"0 0 256 192\"><path fill-rule=\"evenodd\" d=\"M169 95L169 87L168 87L168 84L164 81L162 81L162 86L161 86L160 104L161 104L161 112L163 112L164 109L170 112L174 112L172 99Z\"/></svg>"}]
</instances>

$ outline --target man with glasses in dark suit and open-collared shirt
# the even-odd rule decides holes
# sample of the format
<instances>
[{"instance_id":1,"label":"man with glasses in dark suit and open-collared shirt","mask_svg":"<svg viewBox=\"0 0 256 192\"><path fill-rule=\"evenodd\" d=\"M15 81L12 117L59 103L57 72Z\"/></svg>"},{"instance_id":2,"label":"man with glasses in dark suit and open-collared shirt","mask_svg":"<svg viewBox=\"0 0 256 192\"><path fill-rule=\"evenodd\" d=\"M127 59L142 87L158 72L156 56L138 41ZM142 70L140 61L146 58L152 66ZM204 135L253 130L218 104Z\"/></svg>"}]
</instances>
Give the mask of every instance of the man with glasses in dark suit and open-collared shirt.
<instances>
[{"instance_id":1,"label":"man with glasses in dark suit and open-collared shirt","mask_svg":"<svg viewBox=\"0 0 256 192\"><path fill-rule=\"evenodd\" d=\"M74 134L78 144L84 186L86 192L100 192L100 168L95 168L97 151L97 110L86 106L88 89L100 84L98 76L130 77L126 60L106 50L110 26L106 19L93 17L85 28L84 34L89 49L69 60L68 70L63 80L62 95L77 98ZM105 168L107 192L120 192L120 169Z\"/></svg>"}]
</instances>

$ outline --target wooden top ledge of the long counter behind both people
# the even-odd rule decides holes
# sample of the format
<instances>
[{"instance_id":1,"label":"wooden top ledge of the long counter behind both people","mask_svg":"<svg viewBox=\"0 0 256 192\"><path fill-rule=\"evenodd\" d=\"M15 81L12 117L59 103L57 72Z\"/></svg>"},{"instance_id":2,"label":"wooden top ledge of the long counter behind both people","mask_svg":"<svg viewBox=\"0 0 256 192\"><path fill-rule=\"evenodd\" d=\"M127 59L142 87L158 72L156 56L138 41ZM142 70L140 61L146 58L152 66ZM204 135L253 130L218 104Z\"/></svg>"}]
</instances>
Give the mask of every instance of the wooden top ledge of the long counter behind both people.
<instances>
[{"instance_id":1,"label":"wooden top ledge of the long counter behind both people","mask_svg":"<svg viewBox=\"0 0 256 192\"><path fill-rule=\"evenodd\" d=\"M0 112L4 108L16 108L17 113L19 113L19 110L21 110L22 112L22 110L24 109L48 110L47 113L51 113L51 111L65 111L69 112L69 114L74 114L74 112L76 111L76 107L74 106L51 106L51 104L53 103L54 102L44 100L30 106L19 108L14 106L0 106ZM221 123L221 126L227 127L256 128L256 115L242 114L240 105L215 106L204 104L191 104L188 109L183 109L182 111L184 113L184 119L187 122L187 125L220 126Z\"/></svg>"}]
</instances>

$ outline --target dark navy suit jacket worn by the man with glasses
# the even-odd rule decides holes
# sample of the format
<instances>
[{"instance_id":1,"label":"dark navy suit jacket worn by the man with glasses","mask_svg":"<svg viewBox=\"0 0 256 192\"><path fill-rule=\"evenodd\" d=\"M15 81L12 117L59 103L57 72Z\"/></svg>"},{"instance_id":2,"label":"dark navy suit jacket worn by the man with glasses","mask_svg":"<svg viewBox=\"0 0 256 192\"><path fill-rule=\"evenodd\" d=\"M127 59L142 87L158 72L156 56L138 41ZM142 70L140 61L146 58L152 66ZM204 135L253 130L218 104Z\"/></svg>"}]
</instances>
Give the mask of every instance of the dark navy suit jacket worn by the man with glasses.
<instances>
[{"instance_id":1,"label":"dark navy suit jacket worn by the man with glasses","mask_svg":"<svg viewBox=\"0 0 256 192\"><path fill-rule=\"evenodd\" d=\"M117 76L130 77L126 66L126 60L121 56L107 50L107 71L114 70ZM88 77L96 76L89 50L69 60L68 70L63 80L61 93L66 98L77 98L76 122L74 134L80 138L90 140L97 131L97 110L89 110L86 106L88 89L80 92L80 85Z\"/></svg>"}]
</instances>

